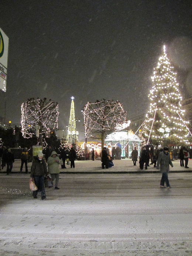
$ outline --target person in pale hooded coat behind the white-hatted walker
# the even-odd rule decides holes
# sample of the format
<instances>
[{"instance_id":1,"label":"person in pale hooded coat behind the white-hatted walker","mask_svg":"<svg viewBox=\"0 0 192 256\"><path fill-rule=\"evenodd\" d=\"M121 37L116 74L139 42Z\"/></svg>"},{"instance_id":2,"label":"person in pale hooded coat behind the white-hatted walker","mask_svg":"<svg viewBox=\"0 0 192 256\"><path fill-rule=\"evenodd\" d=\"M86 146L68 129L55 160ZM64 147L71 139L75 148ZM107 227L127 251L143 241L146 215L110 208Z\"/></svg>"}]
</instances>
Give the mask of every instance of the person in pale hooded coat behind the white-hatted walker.
<instances>
[{"instance_id":1,"label":"person in pale hooded coat behind the white-hatted walker","mask_svg":"<svg viewBox=\"0 0 192 256\"><path fill-rule=\"evenodd\" d=\"M55 190L59 190L59 157L55 151L52 151L51 156L48 157L47 164L52 181L55 180Z\"/></svg>"}]
</instances>

